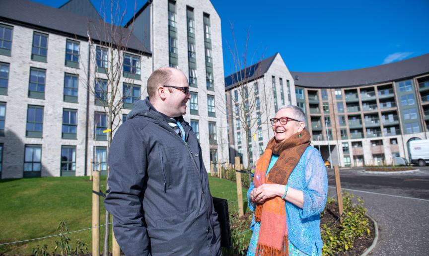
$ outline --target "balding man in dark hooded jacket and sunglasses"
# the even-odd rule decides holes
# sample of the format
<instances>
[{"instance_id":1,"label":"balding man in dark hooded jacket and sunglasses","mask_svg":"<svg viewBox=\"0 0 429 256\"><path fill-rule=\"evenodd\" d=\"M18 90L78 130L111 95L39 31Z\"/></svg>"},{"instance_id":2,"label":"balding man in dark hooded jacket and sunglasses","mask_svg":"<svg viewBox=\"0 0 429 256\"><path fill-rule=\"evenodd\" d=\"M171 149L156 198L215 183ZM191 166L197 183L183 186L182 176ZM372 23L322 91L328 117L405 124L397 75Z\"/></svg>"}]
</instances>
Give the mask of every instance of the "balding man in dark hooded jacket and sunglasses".
<instances>
[{"instance_id":1,"label":"balding man in dark hooded jacket and sunglasses","mask_svg":"<svg viewBox=\"0 0 429 256\"><path fill-rule=\"evenodd\" d=\"M220 229L201 147L183 120L191 98L182 71L162 67L147 80L116 132L104 200L122 251L134 255L220 255Z\"/></svg>"}]
</instances>

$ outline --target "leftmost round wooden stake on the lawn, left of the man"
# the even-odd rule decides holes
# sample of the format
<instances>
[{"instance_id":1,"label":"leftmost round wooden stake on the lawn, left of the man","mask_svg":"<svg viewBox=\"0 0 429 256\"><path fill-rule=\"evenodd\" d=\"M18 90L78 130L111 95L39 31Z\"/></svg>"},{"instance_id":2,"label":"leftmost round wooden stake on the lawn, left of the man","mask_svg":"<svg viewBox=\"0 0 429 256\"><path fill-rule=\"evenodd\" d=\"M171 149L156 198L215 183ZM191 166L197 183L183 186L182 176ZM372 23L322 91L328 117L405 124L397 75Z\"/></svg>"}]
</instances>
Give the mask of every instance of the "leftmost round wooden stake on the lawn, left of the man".
<instances>
[{"instance_id":1,"label":"leftmost round wooden stake on the lawn, left of the man","mask_svg":"<svg viewBox=\"0 0 429 256\"><path fill-rule=\"evenodd\" d=\"M93 174L92 190L95 192L100 192L100 166ZM92 255L100 255L100 196L96 193L92 193Z\"/></svg>"}]
</instances>

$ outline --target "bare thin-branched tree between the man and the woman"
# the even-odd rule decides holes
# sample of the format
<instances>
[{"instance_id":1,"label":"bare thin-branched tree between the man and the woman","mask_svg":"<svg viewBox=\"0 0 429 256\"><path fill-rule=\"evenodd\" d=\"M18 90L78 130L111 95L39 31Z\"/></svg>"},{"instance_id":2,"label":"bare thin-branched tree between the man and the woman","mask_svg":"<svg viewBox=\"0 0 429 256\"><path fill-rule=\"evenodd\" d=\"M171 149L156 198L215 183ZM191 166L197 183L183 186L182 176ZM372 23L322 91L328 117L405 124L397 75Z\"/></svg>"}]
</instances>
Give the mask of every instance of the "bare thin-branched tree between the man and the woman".
<instances>
[{"instance_id":1,"label":"bare thin-branched tree between the man and the woman","mask_svg":"<svg viewBox=\"0 0 429 256\"><path fill-rule=\"evenodd\" d=\"M263 56L254 64L253 60L257 54L255 51L251 54L250 60L248 59L250 56L248 52L250 31L247 31L243 48L237 45L232 24L231 32L233 43L232 45L228 44L228 49L233 61L233 72L230 77L234 88L228 92L230 106L228 115L235 117L232 118L232 121L239 122L240 130L244 131L247 167L250 168L250 158L253 152L249 144L251 143L252 135L256 136L259 128L265 130L264 124L268 124L272 94L270 89L266 89L266 80L262 73L261 61ZM234 95L231 95L232 93ZM230 126L234 126L234 124L230 124Z\"/></svg>"}]
</instances>

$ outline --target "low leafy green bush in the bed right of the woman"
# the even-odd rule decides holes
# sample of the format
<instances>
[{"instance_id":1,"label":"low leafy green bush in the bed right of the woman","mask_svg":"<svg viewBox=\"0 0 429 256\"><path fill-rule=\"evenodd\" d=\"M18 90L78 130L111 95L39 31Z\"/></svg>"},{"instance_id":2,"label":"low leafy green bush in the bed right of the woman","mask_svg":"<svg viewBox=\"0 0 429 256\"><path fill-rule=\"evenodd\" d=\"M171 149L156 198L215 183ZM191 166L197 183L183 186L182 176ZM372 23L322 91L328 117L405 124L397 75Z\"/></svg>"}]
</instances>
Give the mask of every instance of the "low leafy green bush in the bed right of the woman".
<instances>
[{"instance_id":1,"label":"low leafy green bush in the bed right of the woman","mask_svg":"<svg viewBox=\"0 0 429 256\"><path fill-rule=\"evenodd\" d=\"M353 244L358 238L368 236L369 220L366 217L366 208L363 207L363 200L356 197L357 203L353 202L355 196L348 192L343 192L343 223L336 221L333 224L322 224L321 233L323 240L322 255L334 255L339 252L353 248ZM337 204L337 200L329 198L329 205ZM321 218L326 214L326 208L322 212Z\"/></svg>"}]
</instances>

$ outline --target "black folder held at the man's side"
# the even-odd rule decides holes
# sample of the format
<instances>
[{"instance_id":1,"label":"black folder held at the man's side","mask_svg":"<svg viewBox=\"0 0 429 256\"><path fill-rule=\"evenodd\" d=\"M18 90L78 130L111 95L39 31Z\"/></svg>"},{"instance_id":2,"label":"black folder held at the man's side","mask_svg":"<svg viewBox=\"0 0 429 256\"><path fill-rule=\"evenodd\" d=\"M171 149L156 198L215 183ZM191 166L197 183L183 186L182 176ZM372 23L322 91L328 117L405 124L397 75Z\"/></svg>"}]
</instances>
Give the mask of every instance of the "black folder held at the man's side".
<instances>
[{"instance_id":1,"label":"black folder held at the man's side","mask_svg":"<svg viewBox=\"0 0 429 256\"><path fill-rule=\"evenodd\" d=\"M220 224L220 246L230 249L232 240L231 230L229 229L228 200L213 197L213 205Z\"/></svg>"}]
</instances>

